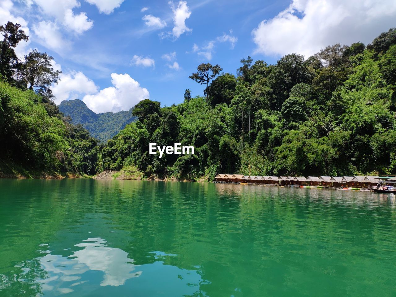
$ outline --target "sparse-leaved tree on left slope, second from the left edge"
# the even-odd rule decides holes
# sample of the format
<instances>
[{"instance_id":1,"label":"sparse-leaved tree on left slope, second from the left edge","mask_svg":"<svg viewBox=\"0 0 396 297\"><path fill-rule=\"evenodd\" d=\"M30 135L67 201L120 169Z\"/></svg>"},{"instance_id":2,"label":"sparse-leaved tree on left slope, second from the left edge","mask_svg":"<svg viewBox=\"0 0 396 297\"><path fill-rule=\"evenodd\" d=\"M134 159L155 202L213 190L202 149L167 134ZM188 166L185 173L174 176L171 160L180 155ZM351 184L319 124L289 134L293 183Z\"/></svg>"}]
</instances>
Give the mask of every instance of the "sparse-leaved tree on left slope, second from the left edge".
<instances>
[{"instance_id":1,"label":"sparse-leaved tree on left slope, second from the left edge","mask_svg":"<svg viewBox=\"0 0 396 297\"><path fill-rule=\"evenodd\" d=\"M57 84L59 75L62 73L59 70L54 71L51 61L53 61L53 57L34 49L25 56L25 62L22 65L26 87L49 98L52 97L49 86L52 83Z\"/></svg>"}]
</instances>

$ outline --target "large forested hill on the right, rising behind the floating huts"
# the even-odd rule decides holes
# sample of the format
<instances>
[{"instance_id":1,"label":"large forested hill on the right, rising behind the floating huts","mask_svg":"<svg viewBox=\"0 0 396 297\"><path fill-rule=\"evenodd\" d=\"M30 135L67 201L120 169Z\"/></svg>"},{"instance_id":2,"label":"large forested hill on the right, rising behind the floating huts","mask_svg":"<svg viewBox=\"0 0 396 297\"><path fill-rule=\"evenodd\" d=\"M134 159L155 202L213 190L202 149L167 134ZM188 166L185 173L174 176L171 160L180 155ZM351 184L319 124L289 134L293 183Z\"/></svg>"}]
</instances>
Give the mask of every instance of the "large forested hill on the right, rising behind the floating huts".
<instances>
[{"instance_id":1,"label":"large forested hill on the right, rising behind the floating huts","mask_svg":"<svg viewBox=\"0 0 396 297\"><path fill-rule=\"evenodd\" d=\"M396 173L396 29L367 46L241 63L237 76L199 65L190 78L208 86L206 97L186 90L184 103L171 107L139 103L139 120L101 150L98 170L135 166L146 176L193 180L219 172ZM193 145L195 154L158 158L149 143Z\"/></svg>"}]
</instances>

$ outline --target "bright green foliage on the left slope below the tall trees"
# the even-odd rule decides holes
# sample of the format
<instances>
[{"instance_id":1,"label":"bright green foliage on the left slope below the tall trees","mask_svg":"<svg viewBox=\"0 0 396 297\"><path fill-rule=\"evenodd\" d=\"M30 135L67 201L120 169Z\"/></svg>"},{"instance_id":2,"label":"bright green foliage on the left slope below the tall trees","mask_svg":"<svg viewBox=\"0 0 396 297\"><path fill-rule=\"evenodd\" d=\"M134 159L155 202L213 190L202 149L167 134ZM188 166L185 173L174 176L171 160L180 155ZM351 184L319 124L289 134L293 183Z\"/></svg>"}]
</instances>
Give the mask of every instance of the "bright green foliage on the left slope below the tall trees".
<instances>
[{"instance_id":1,"label":"bright green foliage on the left slope below the tall trees","mask_svg":"<svg viewBox=\"0 0 396 297\"><path fill-rule=\"evenodd\" d=\"M49 116L40 95L6 82L0 82L0 102L0 172L94 173L98 141L87 130L61 114Z\"/></svg>"}]
</instances>

